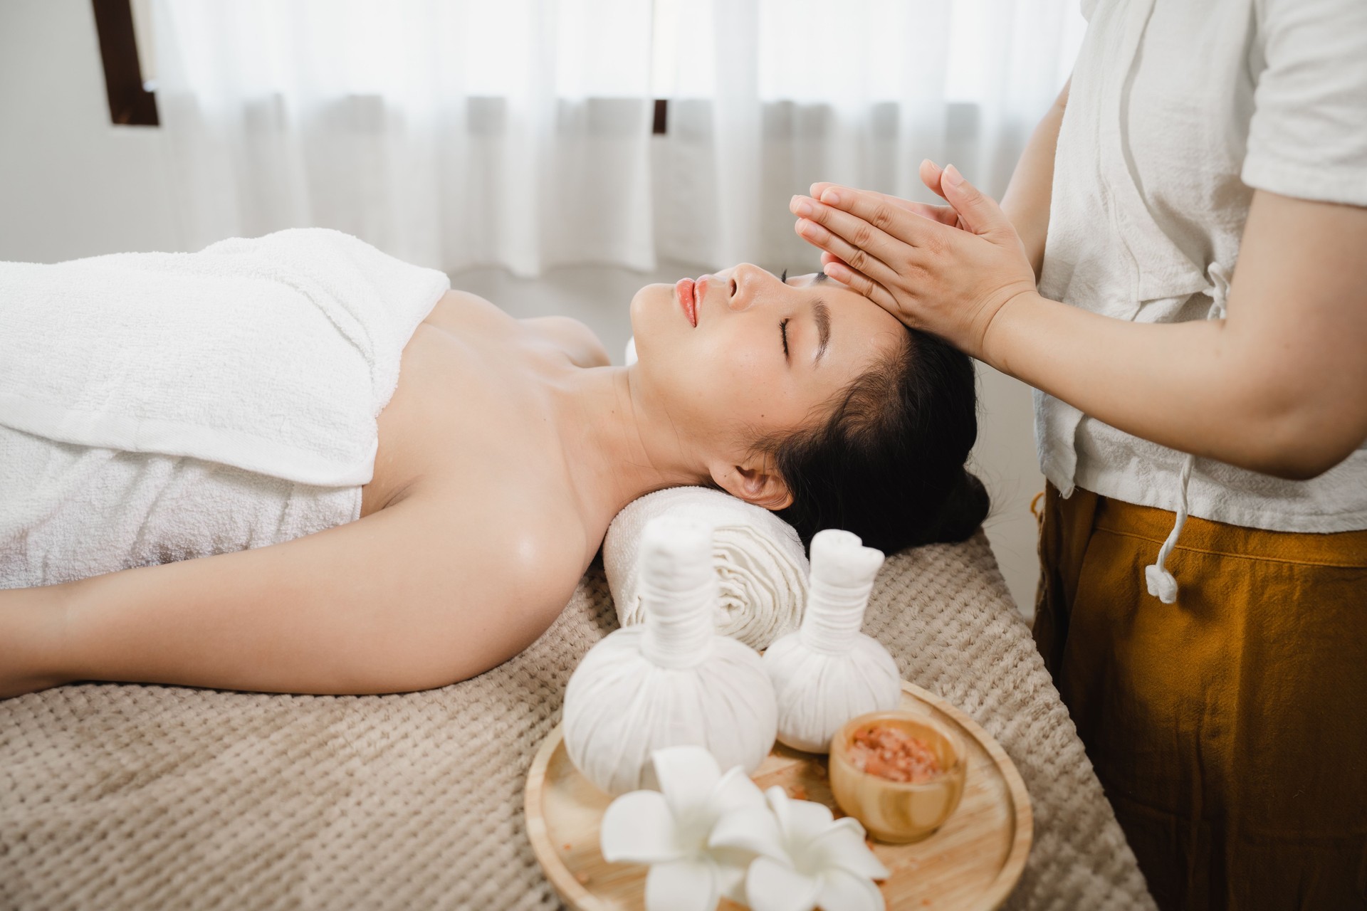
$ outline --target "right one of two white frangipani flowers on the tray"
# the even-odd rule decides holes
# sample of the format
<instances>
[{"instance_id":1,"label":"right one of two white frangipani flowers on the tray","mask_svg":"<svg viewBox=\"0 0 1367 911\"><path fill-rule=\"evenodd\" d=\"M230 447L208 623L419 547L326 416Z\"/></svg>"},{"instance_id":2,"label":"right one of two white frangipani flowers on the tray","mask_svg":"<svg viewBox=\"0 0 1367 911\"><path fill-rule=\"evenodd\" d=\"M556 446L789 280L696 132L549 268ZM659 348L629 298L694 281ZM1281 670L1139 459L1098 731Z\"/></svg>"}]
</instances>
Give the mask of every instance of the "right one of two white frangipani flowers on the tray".
<instances>
[{"instance_id":1,"label":"right one of two white frangipani flowers on the tray","mask_svg":"<svg viewBox=\"0 0 1367 911\"><path fill-rule=\"evenodd\" d=\"M745 875L755 911L883 911L872 880L891 875L864 844L864 826L830 807L793 800L783 788L764 792L768 806L740 807L712 828L708 845L759 856Z\"/></svg>"}]
</instances>

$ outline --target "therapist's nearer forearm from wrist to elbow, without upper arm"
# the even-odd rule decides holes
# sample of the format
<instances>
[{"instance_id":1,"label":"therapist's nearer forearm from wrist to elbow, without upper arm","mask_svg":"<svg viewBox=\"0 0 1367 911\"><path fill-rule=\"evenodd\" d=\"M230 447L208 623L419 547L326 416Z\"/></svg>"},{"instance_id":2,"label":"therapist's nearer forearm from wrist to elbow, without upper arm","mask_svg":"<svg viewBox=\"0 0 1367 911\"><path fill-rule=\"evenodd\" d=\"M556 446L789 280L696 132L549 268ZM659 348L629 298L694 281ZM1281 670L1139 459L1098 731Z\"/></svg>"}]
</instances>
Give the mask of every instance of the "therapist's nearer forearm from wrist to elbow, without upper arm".
<instances>
[{"instance_id":1,"label":"therapist's nearer forearm from wrist to elbow, without upper arm","mask_svg":"<svg viewBox=\"0 0 1367 911\"><path fill-rule=\"evenodd\" d=\"M1243 351L1223 320L1129 322L1024 294L984 341L984 359L998 370L1182 452L1300 479L1356 445L1322 432L1327 415L1280 396L1270 365ZM1269 381L1249 381L1259 374Z\"/></svg>"}]
</instances>

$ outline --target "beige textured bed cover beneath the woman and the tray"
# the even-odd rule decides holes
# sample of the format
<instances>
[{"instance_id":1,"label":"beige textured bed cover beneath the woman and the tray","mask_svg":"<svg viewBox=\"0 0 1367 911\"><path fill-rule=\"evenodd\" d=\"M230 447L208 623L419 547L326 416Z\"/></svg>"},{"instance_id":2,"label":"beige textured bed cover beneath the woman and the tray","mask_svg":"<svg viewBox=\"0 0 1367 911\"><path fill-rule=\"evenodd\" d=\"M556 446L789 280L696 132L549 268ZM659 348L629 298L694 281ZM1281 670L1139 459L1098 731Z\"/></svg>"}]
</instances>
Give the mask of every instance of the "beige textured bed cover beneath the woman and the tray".
<instances>
[{"instance_id":1,"label":"beige textured bed cover beneath the woman and the tray","mask_svg":"<svg viewBox=\"0 0 1367 911\"><path fill-rule=\"evenodd\" d=\"M0 908L558 908L522 785L615 626L593 568L526 651L442 690L0 701ZM864 631L1020 769L1035 841L1006 907L1154 907L982 533L891 557Z\"/></svg>"}]
</instances>

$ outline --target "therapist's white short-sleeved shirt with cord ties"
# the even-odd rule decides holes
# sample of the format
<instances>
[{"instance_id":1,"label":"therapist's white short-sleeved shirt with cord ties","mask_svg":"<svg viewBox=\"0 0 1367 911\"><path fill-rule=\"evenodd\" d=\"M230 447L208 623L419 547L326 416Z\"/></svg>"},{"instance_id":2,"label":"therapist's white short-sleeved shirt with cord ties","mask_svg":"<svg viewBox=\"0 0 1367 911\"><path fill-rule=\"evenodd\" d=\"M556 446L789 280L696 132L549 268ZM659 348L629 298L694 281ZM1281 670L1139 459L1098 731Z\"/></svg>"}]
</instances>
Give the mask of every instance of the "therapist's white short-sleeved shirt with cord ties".
<instances>
[{"instance_id":1,"label":"therapist's white short-sleeved shirt with cord ties","mask_svg":"<svg viewBox=\"0 0 1367 911\"><path fill-rule=\"evenodd\" d=\"M1367 0L1084 0L1083 14L1046 298L1135 322L1202 320L1225 302L1254 188L1367 206ZM1035 436L1065 496L1076 485L1177 509L1182 453L1042 392ZM1367 529L1367 444L1310 481L1196 459L1188 503L1258 529Z\"/></svg>"}]
</instances>

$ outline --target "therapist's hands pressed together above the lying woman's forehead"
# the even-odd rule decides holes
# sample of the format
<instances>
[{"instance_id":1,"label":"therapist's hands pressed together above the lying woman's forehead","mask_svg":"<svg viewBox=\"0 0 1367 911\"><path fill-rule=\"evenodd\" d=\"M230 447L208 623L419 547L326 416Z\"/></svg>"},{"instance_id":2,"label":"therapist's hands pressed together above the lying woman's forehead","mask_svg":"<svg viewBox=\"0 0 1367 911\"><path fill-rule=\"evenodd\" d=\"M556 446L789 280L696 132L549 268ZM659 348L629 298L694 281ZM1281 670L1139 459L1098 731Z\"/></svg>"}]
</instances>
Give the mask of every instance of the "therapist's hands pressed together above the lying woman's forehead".
<instances>
[{"instance_id":1,"label":"therapist's hands pressed together above the lying woman's forehead","mask_svg":"<svg viewBox=\"0 0 1367 911\"><path fill-rule=\"evenodd\" d=\"M928 176L939 178L932 186ZM824 250L831 279L879 303L913 329L938 335L986 361L992 320L1035 292L1020 236L991 198L950 165L923 164L921 179L949 206L923 206L867 190L823 184L820 201L793 197L796 229ZM923 213L910 206L954 212Z\"/></svg>"}]
</instances>

